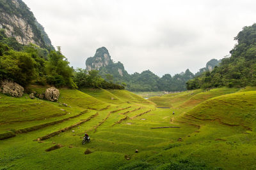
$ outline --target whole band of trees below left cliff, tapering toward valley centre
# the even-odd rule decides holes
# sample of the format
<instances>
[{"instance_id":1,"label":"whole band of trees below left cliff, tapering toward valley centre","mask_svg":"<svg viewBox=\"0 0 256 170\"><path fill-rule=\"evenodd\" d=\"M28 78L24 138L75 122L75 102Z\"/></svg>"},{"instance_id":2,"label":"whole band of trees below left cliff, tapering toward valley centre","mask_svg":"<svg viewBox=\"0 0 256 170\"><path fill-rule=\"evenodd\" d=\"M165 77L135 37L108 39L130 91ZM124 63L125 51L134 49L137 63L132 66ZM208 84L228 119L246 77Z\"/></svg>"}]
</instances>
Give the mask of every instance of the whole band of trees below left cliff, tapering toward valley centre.
<instances>
[{"instance_id":1,"label":"whole band of trees below left cliff, tapering toward valley centre","mask_svg":"<svg viewBox=\"0 0 256 170\"><path fill-rule=\"evenodd\" d=\"M29 84L54 85L69 88L124 89L108 82L97 71L75 71L67 58L58 50L47 50L37 45L20 45L0 30L0 80L13 80L26 87Z\"/></svg>"}]
</instances>

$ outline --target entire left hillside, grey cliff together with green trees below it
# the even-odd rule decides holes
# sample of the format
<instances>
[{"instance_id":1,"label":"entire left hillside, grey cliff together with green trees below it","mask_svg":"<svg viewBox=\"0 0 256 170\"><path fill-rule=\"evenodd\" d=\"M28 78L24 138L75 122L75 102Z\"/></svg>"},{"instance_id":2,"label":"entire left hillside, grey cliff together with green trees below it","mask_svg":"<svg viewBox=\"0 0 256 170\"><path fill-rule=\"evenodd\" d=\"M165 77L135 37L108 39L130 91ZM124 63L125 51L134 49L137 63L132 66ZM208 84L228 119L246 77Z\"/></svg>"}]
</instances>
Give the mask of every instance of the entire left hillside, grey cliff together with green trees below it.
<instances>
[{"instance_id":1,"label":"entire left hillside, grey cliff together with green trees below it","mask_svg":"<svg viewBox=\"0 0 256 170\"><path fill-rule=\"evenodd\" d=\"M97 71L70 67L60 46L53 48L44 27L21 0L1 0L0 11L0 82L12 80L25 90L31 84L124 89L105 81Z\"/></svg>"}]
</instances>

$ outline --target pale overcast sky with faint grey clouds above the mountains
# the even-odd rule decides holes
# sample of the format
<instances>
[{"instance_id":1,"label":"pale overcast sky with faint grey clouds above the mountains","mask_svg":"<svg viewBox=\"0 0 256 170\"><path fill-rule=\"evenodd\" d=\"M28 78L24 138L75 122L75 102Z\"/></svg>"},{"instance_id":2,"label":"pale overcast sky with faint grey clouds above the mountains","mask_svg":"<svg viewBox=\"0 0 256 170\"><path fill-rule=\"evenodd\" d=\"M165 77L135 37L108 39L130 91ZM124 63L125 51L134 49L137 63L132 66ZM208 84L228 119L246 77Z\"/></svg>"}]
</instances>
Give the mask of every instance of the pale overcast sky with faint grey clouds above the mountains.
<instances>
[{"instance_id":1,"label":"pale overcast sky with faint grey clouds above the mountains","mask_svg":"<svg viewBox=\"0 0 256 170\"><path fill-rule=\"evenodd\" d=\"M61 46L71 66L85 68L97 48L129 73L196 73L228 55L234 37L256 22L255 0L23 0Z\"/></svg>"}]
</instances>

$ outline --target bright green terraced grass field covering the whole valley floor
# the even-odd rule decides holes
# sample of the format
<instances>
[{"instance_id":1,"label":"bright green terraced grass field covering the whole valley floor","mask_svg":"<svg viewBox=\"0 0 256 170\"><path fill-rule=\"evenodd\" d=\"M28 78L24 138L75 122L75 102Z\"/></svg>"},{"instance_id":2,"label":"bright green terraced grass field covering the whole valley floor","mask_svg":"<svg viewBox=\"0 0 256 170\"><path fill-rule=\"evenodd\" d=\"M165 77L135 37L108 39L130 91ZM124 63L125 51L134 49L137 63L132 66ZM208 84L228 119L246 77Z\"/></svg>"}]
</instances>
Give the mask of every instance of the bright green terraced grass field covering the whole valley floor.
<instances>
[{"instance_id":1,"label":"bright green terraced grass field covering the whole valley floor","mask_svg":"<svg viewBox=\"0 0 256 170\"><path fill-rule=\"evenodd\" d=\"M0 169L256 169L255 90L146 100L60 89L58 103L0 94ZM91 142L82 145L84 132Z\"/></svg>"}]
</instances>

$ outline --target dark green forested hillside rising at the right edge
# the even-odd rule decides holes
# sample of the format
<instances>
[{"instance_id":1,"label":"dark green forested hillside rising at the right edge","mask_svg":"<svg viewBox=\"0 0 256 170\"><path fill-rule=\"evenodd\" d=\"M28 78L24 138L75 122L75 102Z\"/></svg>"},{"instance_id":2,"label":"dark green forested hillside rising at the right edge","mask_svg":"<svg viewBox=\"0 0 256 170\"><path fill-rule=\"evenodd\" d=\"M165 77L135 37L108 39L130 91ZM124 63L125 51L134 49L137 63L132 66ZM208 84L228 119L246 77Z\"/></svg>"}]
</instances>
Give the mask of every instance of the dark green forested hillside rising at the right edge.
<instances>
[{"instance_id":1,"label":"dark green forested hillside rising at the right edge","mask_svg":"<svg viewBox=\"0 0 256 170\"><path fill-rule=\"evenodd\" d=\"M187 89L256 85L256 24L244 27L234 38L237 45L220 66L187 82Z\"/></svg>"}]
</instances>

